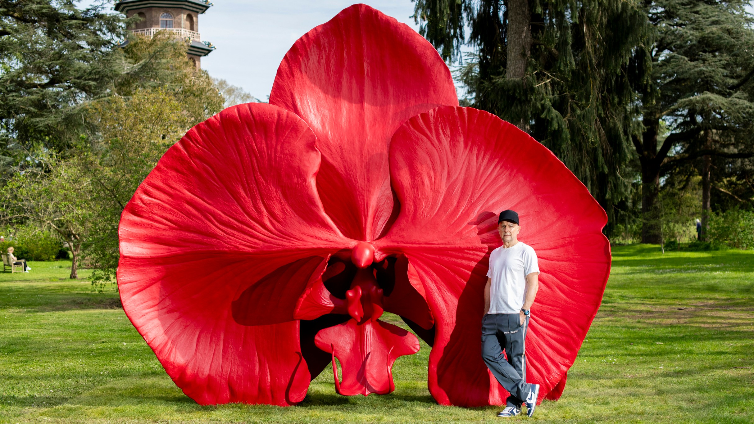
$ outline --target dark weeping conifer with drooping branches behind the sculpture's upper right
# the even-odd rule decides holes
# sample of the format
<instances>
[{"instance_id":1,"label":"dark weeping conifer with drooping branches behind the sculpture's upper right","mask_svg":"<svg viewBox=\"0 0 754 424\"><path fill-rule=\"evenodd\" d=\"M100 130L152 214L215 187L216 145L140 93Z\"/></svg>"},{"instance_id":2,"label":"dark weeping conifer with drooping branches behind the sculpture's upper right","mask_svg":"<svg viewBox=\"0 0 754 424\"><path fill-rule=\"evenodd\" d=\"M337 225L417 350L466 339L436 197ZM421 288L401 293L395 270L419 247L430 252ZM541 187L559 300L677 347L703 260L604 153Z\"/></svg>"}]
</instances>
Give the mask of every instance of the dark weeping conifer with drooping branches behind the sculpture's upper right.
<instances>
[{"instance_id":1,"label":"dark weeping conifer with drooping branches behind the sculpture's upper right","mask_svg":"<svg viewBox=\"0 0 754 424\"><path fill-rule=\"evenodd\" d=\"M421 34L444 59L461 59L461 45L475 47L458 73L470 104L550 148L613 218L630 188L636 132L627 71L650 31L638 3L415 1Z\"/></svg>"}]
</instances>

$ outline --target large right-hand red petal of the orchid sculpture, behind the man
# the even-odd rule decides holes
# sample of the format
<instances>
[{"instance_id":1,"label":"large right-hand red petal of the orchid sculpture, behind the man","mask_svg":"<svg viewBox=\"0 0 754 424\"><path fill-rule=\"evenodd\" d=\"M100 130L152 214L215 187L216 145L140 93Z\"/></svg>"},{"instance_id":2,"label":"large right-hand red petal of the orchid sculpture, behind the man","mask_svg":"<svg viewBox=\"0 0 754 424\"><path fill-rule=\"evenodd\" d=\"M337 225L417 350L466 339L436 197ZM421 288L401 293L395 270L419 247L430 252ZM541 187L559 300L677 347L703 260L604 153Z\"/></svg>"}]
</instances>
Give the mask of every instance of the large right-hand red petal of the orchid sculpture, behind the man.
<instances>
[{"instance_id":1,"label":"large right-hand red petal of the orchid sculpture, behind the man","mask_svg":"<svg viewBox=\"0 0 754 424\"><path fill-rule=\"evenodd\" d=\"M400 216L378 256L403 252L436 323L429 387L441 404L504 402L481 358L483 287L500 246L497 214L519 213L519 239L539 258L527 335L528 381L544 398L565 376L596 315L610 270L605 212L547 148L473 108L412 117L391 142ZM496 395L498 394L498 395Z\"/></svg>"}]
</instances>

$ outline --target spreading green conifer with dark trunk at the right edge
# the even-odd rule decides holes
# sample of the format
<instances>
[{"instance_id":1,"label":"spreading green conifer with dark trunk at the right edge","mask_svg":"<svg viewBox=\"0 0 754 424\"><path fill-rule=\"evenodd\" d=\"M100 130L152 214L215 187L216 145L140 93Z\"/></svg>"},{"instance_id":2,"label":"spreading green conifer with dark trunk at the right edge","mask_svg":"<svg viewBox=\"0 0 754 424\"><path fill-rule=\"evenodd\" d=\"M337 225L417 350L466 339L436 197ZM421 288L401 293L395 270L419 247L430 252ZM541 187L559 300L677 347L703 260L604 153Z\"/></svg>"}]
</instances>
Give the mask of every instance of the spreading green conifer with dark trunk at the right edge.
<instances>
[{"instance_id":1,"label":"spreading green conifer with dark trunk at the right edge","mask_svg":"<svg viewBox=\"0 0 754 424\"><path fill-rule=\"evenodd\" d=\"M660 243L660 179L701 160L702 238L710 218L715 157L752 156L754 29L739 0L664 0L647 5L656 30L636 50L632 81L642 132L642 242Z\"/></svg>"}]
</instances>

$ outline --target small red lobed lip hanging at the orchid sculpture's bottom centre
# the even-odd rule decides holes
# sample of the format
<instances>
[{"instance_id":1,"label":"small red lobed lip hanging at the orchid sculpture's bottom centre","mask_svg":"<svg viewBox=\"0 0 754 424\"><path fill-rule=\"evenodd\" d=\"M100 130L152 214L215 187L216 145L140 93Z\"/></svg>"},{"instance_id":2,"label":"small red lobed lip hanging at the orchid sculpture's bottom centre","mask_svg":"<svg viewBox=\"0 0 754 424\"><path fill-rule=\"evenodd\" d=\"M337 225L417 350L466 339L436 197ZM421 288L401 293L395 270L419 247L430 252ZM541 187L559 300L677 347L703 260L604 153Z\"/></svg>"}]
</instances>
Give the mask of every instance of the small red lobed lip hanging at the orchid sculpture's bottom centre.
<instances>
[{"instance_id":1,"label":"small red lobed lip hanging at the orchid sculpture's bottom centre","mask_svg":"<svg viewBox=\"0 0 754 424\"><path fill-rule=\"evenodd\" d=\"M392 392L395 389L393 362L399 356L419 351L416 336L379 319L361 325L349 319L324 328L317 333L314 343L339 359L343 376L339 384L336 382L336 389L341 395Z\"/></svg>"}]
</instances>

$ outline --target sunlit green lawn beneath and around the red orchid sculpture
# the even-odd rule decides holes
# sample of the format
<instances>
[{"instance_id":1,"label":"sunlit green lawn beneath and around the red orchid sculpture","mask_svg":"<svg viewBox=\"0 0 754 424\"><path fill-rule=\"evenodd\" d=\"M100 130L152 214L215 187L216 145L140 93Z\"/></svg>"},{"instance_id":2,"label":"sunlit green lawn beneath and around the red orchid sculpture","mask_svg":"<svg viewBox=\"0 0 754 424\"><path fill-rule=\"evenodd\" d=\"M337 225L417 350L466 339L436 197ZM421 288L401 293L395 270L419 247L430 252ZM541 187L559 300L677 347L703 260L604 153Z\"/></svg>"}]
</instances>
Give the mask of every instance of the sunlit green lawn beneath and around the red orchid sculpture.
<instances>
[{"instance_id":1,"label":"sunlit green lawn beneath and around the red orchid sculpture","mask_svg":"<svg viewBox=\"0 0 754 424\"><path fill-rule=\"evenodd\" d=\"M529 420L754 421L754 252L663 255L636 245L613 255L566 392ZM69 264L0 274L0 422L498 422L498 407L435 404L423 343L396 361L391 395L336 395L326 369L298 407L198 406L164 373L117 294L67 280Z\"/></svg>"}]
</instances>

